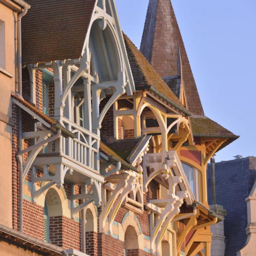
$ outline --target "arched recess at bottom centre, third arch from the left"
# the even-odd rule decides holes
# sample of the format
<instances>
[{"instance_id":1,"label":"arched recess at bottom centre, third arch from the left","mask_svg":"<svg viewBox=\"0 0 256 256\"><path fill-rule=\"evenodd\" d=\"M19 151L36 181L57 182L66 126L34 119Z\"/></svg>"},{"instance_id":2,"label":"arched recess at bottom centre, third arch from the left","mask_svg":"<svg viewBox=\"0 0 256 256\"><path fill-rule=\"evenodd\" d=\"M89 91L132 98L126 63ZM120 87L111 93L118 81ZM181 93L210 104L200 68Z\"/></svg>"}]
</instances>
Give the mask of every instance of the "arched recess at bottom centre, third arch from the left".
<instances>
[{"instance_id":1,"label":"arched recess at bottom centre, third arch from the left","mask_svg":"<svg viewBox=\"0 0 256 256\"><path fill-rule=\"evenodd\" d=\"M124 234L124 256L138 256L139 243L136 230L133 226L128 226Z\"/></svg>"}]
</instances>

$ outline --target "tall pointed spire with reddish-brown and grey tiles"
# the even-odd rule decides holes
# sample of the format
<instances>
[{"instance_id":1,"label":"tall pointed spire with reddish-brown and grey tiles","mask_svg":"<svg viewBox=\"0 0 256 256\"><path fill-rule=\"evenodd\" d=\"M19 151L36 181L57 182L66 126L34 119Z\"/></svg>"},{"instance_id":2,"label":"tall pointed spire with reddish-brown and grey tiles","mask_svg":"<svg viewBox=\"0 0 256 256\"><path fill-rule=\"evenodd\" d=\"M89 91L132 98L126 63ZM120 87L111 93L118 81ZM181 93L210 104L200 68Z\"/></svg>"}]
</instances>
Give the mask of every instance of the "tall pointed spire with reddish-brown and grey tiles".
<instances>
[{"instance_id":1,"label":"tall pointed spire with reddish-brown and grey tiles","mask_svg":"<svg viewBox=\"0 0 256 256\"><path fill-rule=\"evenodd\" d=\"M180 92L181 76L188 110L204 115L170 0L149 0L140 51L176 95Z\"/></svg>"}]
</instances>

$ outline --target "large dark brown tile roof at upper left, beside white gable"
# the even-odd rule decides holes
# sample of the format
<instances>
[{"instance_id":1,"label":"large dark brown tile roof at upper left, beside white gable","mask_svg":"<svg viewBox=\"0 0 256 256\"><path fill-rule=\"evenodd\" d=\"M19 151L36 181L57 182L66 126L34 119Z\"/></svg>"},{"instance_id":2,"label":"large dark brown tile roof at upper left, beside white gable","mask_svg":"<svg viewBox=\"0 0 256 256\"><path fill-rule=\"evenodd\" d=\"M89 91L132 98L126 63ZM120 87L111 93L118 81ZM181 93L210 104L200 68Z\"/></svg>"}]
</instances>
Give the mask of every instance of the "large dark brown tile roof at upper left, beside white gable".
<instances>
[{"instance_id":1,"label":"large dark brown tile roof at upper left, beside white gable","mask_svg":"<svg viewBox=\"0 0 256 256\"><path fill-rule=\"evenodd\" d=\"M95 0L27 0L23 63L80 58Z\"/></svg>"}]
</instances>

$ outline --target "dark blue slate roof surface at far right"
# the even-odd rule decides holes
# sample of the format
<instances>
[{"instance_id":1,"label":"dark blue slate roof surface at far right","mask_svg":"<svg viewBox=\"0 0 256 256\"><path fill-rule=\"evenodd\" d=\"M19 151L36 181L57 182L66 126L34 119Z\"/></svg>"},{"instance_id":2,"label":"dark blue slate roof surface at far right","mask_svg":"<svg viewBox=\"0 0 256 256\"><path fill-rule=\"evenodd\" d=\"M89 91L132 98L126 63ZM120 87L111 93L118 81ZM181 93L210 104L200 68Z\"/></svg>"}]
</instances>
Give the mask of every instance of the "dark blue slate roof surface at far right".
<instances>
[{"instance_id":1,"label":"dark blue slate roof surface at far right","mask_svg":"<svg viewBox=\"0 0 256 256\"><path fill-rule=\"evenodd\" d=\"M237 152L239 153L239 152ZM215 163L216 202L226 210L224 256L234 256L246 243L246 198L255 181L256 158L246 157ZM207 166L208 202L212 204L211 166ZM248 254L250 255L250 254Z\"/></svg>"}]
</instances>

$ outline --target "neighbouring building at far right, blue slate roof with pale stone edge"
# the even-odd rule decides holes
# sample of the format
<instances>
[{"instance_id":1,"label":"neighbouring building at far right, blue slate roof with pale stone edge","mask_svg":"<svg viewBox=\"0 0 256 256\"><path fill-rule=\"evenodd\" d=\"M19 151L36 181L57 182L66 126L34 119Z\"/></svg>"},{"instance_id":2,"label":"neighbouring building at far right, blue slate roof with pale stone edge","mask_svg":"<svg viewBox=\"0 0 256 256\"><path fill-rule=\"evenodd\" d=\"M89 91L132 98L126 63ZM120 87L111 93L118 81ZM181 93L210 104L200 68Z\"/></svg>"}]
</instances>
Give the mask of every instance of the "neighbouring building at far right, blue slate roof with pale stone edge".
<instances>
[{"instance_id":1,"label":"neighbouring building at far right, blue slate roof with pale stone edge","mask_svg":"<svg viewBox=\"0 0 256 256\"><path fill-rule=\"evenodd\" d=\"M215 164L216 201L226 210L224 220L225 248L222 254L224 256L249 256L256 252L255 170L255 157ZM211 193L209 165L208 195L210 204L212 204Z\"/></svg>"}]
</instances>

